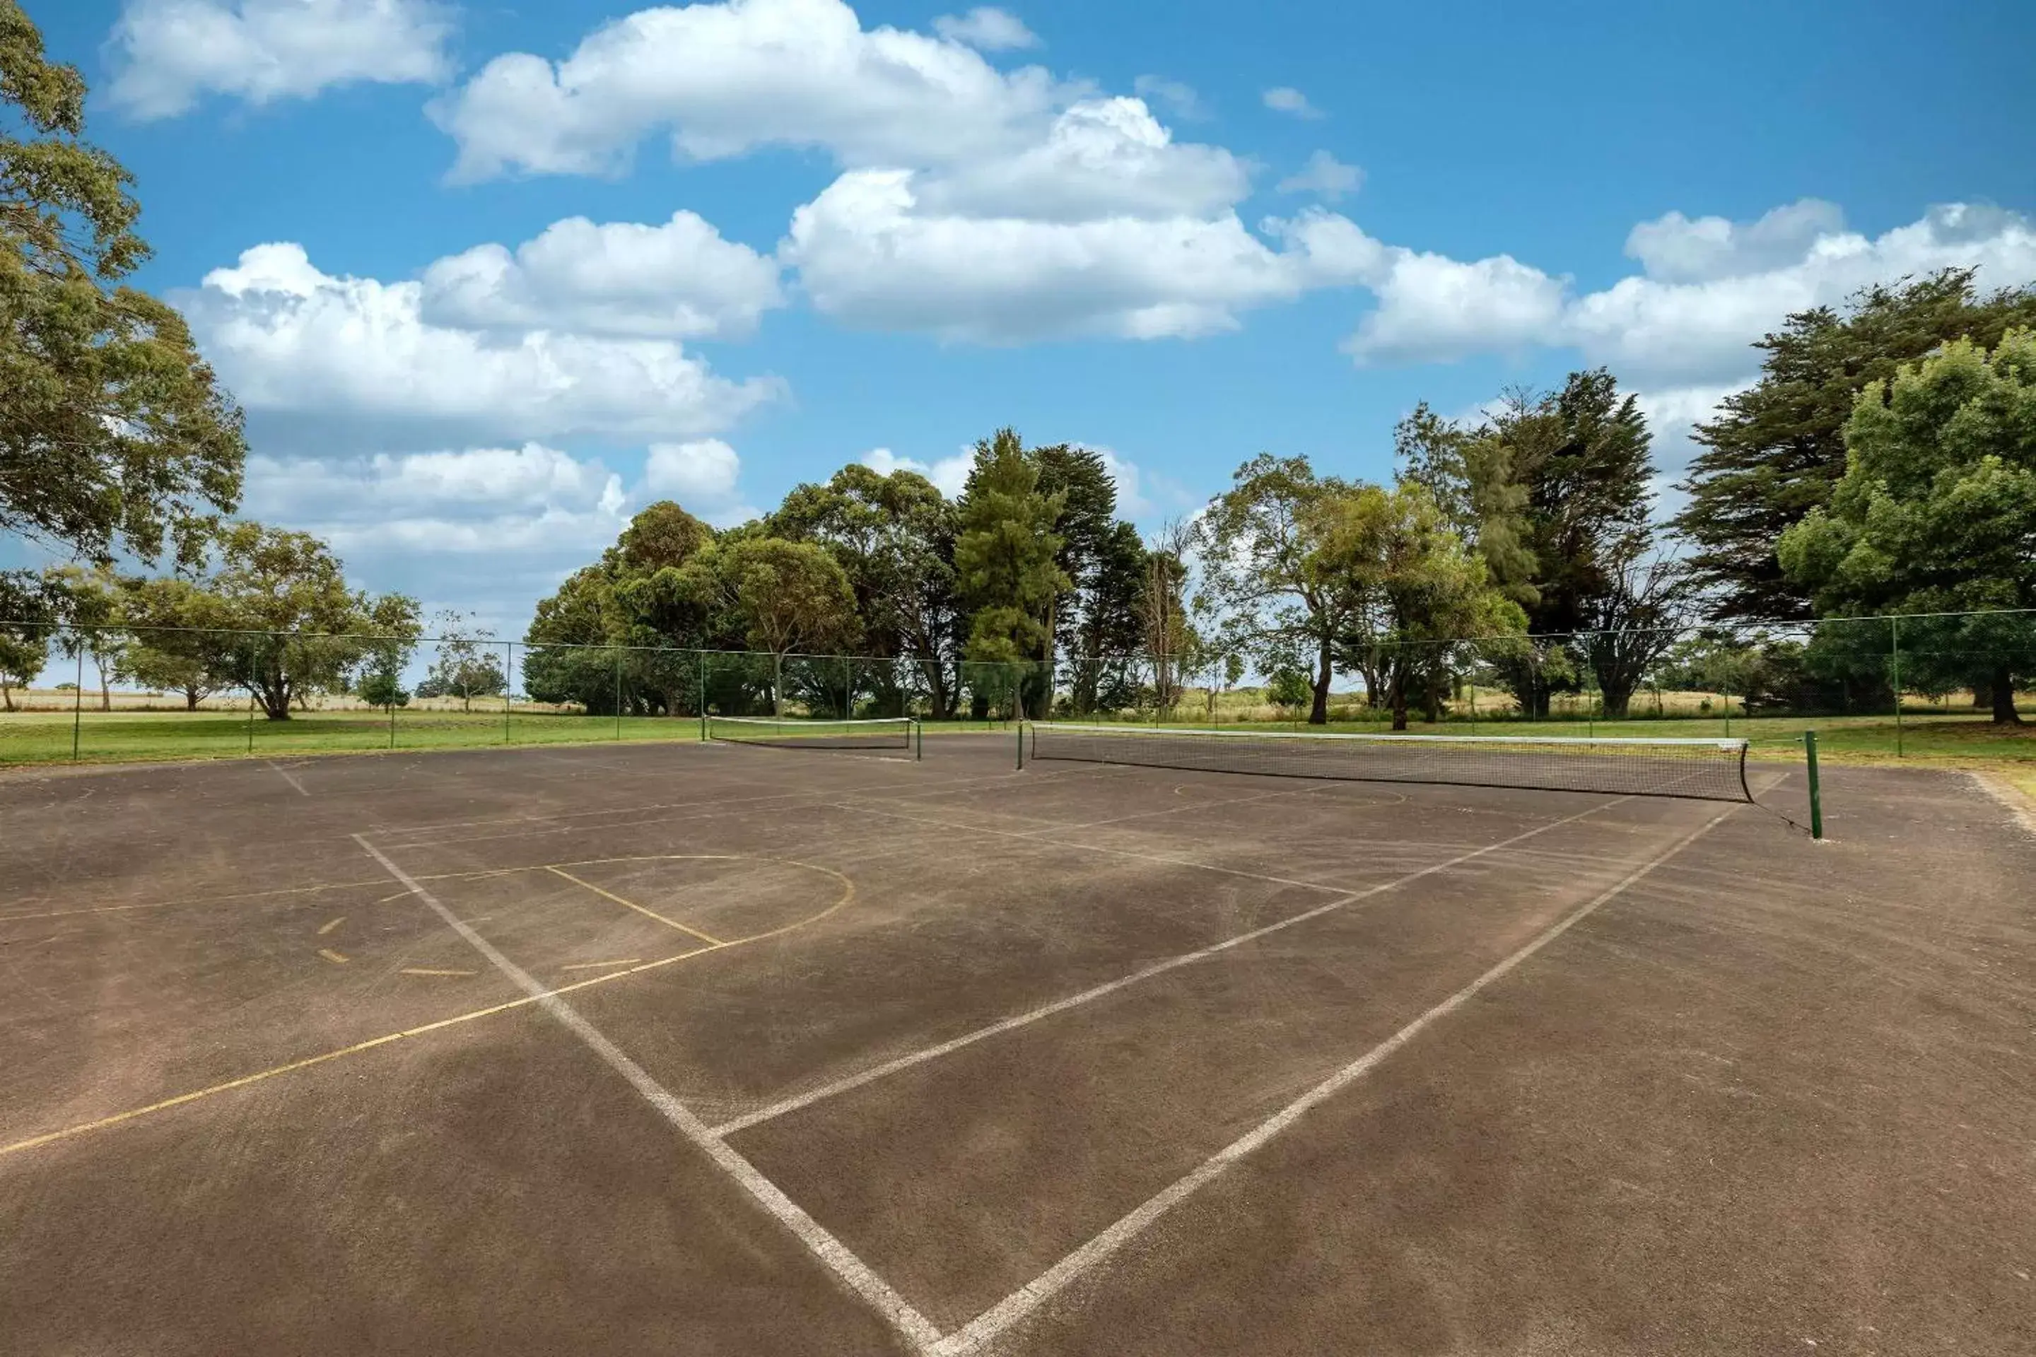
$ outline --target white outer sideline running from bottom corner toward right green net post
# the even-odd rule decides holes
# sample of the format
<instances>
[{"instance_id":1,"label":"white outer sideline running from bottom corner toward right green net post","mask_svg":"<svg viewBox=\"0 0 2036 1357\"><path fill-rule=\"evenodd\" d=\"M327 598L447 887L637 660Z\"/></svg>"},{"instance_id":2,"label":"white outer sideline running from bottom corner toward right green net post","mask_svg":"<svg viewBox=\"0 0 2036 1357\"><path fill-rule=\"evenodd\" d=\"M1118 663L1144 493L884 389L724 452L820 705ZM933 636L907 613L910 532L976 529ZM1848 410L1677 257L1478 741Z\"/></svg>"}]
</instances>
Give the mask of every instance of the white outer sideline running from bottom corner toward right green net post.
<instances>
[{"instance_id":1,"label":"white outer sideline running from bottom corner toward right green net post","mask_svg":"<svg viewBox=\"0 0 2036 1357\"><path fill-rule=\"evenodd\" d=\"M996 1339L998 1335L1002 1335L1012 1324L1016 1324L1022 1318L1026 1318L1028 1314L1032 1314L1036 1308L1040 1308L1042 1304L1047 1304L1049 1300L1053 1300L1059 1292L1063 1292L1081 1274L1085 1274L1091 1267L1095 1267L1097 1263L1106 1261L1112 1253L1116 1253L1126 1243L1130 1243L1132 1239L1136 1239L1148 1225L1152 1225L1163 1215L1167 1215L1169 1211L1173 1211L1177 1204L1181 1204L1183 1200L1187 1200L1189 1196L1193 1196L1195 1190L1199 1190L1203 1184L1211 1182L1226 1168L1230 1168L1232 1164L1236 1164L1244 1156L1252 1154L1254 1149L1258 1149L1260 1145L1264 1145L1266 1141L1270 1141L1275 1135L1279 1135L1281 1131L1285 1131L1287 1127L1291 1127L1295 1121L1299 1121L1301 1117L1305 1117L1311 1109L1319 1107L1321 1103L1330 1101L1332 1097L1336 1097L1338 1093L1342 1093L1344 1088L1348 1088L1356 1080L1360 1080L1366 1074L1370 1074L1374 1068L1378 1068L1378 1064L1382 1064L1389 1056L1393 1056L1397 1050L1401 1050L1403 1046L1407 1046L1407 1042L1411 1042L1413 1038L1417 1038L1425 1027L1433 1025L1435 1021L1448 1017L1456 1009L1460 1009L1466 1003L1470 1003L1470 999L1476 997L1478 991L1486 989L1494 981L1505 979L1509 972L1513 972L1529 956L1533 956L1535 952L1539 952L1541 948L1545 948L1549 942L1553 942L1562 934L1570 932L1570 928L1574 928L1576 924L1580 924L1586 916L1590 916L1594 909L1598 909L1604 901L1617 897L1627 887L1631 887L1635 881L1639 881L1641 877L1645 877L1647 873L1651 873L1653 869L1661 867L1672 857L1676 857L1678 852L1682 852L1684 848L1688 848L1690 844L1694 844L1698 838L1702 838L1706 832L1710 832L1712 826L1716 826L1720 820L1724 820L1727 816L1731 816L1735 810L1739 810L1739 808L1731 806L1731 808L1718 812L1716 816L1712 816L1700 828L1696 828L1690 834L1678 838L1670 848L1665 848L1657 857L1649 859L1645 865L1637 867L1635 871L1627 873L1627 877L1621 879L1617 885L1608 887L1606 891L1600 891L1588 903L1578 905L1576 909L1572 909L1570 913L1566 913L1560 922L1556 922L1553 926L1541 930L1541 934L1535 936L1533 942L1529 942L1521 950L1517 950L1511 956L1507 956L1505 960L1501 960L1496 966L1492 966L1490 970L1486 970L1484 975L1480 975L1476 981L1472 981L1464 989L1456 991L1454 995L1450 995L1448 999L1444 999L1441 1003L1437 1003L1435 1007L1431 1007L1429 1011L1421 1013L1417 1019L1413 1019L1411 1023L1407 1023L1405 1027L1401 1027L1399 1031L1395 1031L1393 1036L1389 1036L1378 1046L1370 1048L1368 1052L1364 1052L1362 1056L1358 1056L1356 1060L1352 1060L1350 1064L1346 1064L1344 1068L1340 1068L1336 1074L1332 1074L1330 1078L1321 1080L1319 1084L1315 1084L1313 1088L1309 1088L1307 1093L1303 1093L1299 1099L1295 1099L1293 1103L1289 1103L1287 1107L1283 1107L1279 1113L1275 1113L1272 1117L1268 1117L1262 1123L1258 1123L1258 1127L1254 1127L1246 1135L1242 1135L1242 1137L1230 1141L1228 1145L1224 1145L1222 1149L1218 1149L1213 1156L1209 1156L1207 1160L1203 1160L1201 1166L1195 1168L1191 1174L1187 1174L1185 1178L1181 1178L1173 1186L1163 1188L1154 1196L1146 1198L1146 1202L1142 1206L1138 1206L1136 1211L1132 1211L1130 1215L1126 1215L1124 1219L1120 1219L1116 1225L1112 1225L1104 1233L1099 1233L1093 1239L1089 1239L1085 1245L1081 1245L1079 1249L1075 1249L1073 1253L1069 1253L1067 1257L1063 1257L1059 1263L1055 1263L1053 1267L1049 1267L1044 1274L1040 1274L1038 1278L1034 1278L1026 1286L1018 1288L1016 1292L1012 1292L1010 1296L1006 1296L1004 1300L1000 1300L992 1308L983 1310L981 1314L977 1314L973 1320L969 1320L967 1324L963 1324L955 1333L951 1333L945 1339L941 1339L939 1343L935 1343L932 1349L930 1349L932 1355L935 1357L959 1357L961 1353L973 1353L981 1345L985 1345L992 1339Z\"/></svg>"}]
</instances>

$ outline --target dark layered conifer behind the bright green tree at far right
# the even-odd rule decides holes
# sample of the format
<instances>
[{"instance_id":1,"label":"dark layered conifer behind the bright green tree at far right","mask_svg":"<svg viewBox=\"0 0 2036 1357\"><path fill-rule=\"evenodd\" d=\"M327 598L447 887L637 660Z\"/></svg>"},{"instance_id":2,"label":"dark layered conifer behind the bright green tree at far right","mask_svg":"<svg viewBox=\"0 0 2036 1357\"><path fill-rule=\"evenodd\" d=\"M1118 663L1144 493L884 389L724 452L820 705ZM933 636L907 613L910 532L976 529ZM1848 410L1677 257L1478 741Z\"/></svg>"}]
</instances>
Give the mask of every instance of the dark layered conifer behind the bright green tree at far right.
<instances>
[{"instance_id":1,"label":"dark layered conifer behind the bright green tree at far right","mask_svg":"<svg viewBox=\"0 0 2036 1357\"><path fill-rule=\"evenodd\" d=\"M1696 584L1714 616L1798 621L1810 588L1775 553L1782 533L1830 500L1845 476L1843 429L1869 382L1885 382L1948 340L1999 344L2012 326L2036 323L2036 289L1979 295L1973 269L1944 269L1855 293L1841 315L1814 307L1763 338L1761 378L1731 395L1696 427L1704 448L1682 488L1690 505L1676 527L1696 543Z\"/></svg>"}]
</instances>

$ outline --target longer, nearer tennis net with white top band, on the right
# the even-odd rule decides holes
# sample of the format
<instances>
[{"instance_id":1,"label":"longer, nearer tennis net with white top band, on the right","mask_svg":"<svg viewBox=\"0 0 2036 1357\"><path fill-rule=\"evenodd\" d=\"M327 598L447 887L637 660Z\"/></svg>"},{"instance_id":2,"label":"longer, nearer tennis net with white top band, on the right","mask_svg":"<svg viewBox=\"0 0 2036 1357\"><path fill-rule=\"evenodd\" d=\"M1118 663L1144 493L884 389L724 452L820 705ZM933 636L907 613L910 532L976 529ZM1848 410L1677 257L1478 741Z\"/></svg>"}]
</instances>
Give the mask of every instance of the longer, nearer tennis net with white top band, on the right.
<instances>
[{"instance_id":1,"label":"longer, nearer tennis net with white top band, on the right","mask_svg":"<svg viewBox=\"0 0 2036 1357\"><path fill-rule=\"evenodd\" d=\"M1570 734L1332 734L1032 722L1034 759L1199 773L1421 781L1751 802L1745 741Z\"/></svg>"}]
</instances>

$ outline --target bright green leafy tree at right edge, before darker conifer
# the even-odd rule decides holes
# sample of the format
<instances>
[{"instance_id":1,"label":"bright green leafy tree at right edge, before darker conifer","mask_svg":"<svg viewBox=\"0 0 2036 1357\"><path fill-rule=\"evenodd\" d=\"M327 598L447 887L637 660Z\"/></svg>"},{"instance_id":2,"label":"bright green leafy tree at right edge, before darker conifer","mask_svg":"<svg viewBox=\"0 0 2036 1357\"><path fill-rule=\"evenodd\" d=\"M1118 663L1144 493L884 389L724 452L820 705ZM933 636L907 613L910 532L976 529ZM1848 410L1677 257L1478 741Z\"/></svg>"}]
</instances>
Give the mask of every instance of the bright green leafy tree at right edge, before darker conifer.
<instances>
[{"instance_id":1,"label":"bright green leafy tree at right edge, before darker conifer","mask_svg":"<svg viewBox=\"0 0 2036 1357\"><path fill-rule=\"evenodd\" d=\"M1822 616L1938 614L1889 623L1904 673L1981 677L1993 720L2022 724L2036 618L1975 610L2036 608L2036 330L1867 382L1845 446L1830 503L1782 535L1782 570Z\"/></svg>"}]
</instances>

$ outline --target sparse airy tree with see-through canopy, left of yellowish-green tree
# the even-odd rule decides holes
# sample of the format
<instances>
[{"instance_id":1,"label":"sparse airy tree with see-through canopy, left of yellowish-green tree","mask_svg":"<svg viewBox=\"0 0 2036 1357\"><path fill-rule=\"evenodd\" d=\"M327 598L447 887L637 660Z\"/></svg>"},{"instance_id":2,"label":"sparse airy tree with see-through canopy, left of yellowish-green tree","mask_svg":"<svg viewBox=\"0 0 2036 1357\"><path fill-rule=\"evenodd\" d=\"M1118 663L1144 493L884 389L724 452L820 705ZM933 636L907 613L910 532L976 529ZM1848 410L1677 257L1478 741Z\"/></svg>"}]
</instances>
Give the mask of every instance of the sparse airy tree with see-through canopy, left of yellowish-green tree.
<instances>
[{"instance_id":1,"label":"sparse airy tree with see-through canopy, left of yellowish-green tree","mask_svg":"<svg viewBox=\"0 0 2036 1357\"><path fill-rule=\"evenodd\" d=\"M1323 505L1350 486L1317 478L1307 458L1258 454L1232 476L1201 517L1201 604L1222 614L1226 643L1313 657L1307 720L1330 720L1336 643L1352 631L1360 598L1323 555Z\"/></svg>"}]
</instances>

